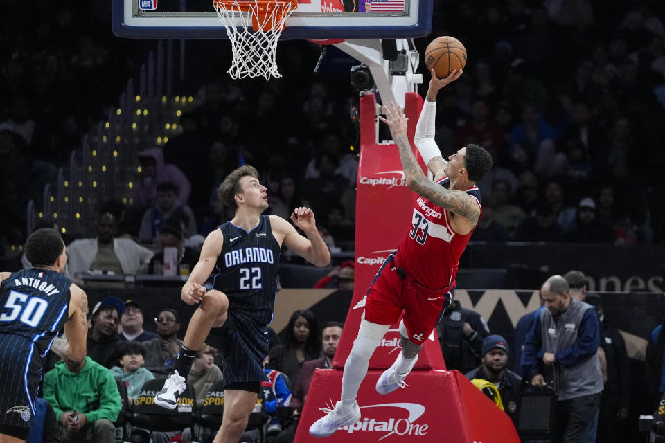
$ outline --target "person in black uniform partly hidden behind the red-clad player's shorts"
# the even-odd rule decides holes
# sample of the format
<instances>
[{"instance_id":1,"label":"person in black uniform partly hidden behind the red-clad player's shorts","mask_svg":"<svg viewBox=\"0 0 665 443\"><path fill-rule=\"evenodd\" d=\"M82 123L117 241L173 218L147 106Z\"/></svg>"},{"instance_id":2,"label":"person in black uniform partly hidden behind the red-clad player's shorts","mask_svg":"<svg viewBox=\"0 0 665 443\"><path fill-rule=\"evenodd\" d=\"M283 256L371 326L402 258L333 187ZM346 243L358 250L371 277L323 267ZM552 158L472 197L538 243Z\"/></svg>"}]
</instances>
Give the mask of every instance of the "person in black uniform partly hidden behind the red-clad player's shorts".
<instances>
[{"instance_id":1,"label":"person in black uniform partly hidden behind the red-clad player's shorts","mask_svg":"<svg viewBox=\"0 0 665 443\"><path fill-rule=\"evenodd\" d=\"M490 335L490 328L480 314L453 300L436 325L436 332L446 368L464 374L480 364L483 340Z\"/></svg>"}]
</instances>

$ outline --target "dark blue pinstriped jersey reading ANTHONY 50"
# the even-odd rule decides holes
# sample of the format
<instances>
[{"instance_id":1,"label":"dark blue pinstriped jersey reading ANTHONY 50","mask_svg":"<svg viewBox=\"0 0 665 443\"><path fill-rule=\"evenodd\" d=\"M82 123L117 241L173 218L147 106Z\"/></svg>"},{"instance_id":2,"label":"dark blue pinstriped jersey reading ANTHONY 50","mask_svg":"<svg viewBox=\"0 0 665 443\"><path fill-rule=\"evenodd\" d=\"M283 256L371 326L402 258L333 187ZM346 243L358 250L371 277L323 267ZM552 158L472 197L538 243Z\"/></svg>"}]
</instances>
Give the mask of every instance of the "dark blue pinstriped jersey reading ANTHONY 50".
<instances>
[{"instance_id":1,"label":"dark blue pinstriped jersey reading ANTHONY 50","mask_svg":"<svg viewBox=\"0 0 665 443\"><path fill-rule=\"evenodd\" d=\"M0 283L0 334L14 334L37 343L46 354L69 316L65 275L48 269L23 269Z\"/></svg>"}]
</instances>

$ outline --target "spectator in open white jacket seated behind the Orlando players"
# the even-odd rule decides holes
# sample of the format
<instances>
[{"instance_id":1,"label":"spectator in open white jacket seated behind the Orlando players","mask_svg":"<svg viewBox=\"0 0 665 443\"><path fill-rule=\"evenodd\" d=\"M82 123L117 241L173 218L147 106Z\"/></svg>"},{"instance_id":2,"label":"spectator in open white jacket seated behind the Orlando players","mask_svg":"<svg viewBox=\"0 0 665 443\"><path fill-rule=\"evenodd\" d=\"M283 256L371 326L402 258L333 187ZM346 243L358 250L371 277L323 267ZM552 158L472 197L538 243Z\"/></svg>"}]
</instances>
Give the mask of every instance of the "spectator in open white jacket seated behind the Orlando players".
<instances>
[{"instance_id":1,"label":"spectator in open white jacket seated behind the Orlando players","mask_svg":"<svg viewBox=\"0 0 665 443\"><path fill-rule=\"evenodd\" d=\"M116 218L111 213L100 215L97 237L74 240L67 246L69 273L101 271L114 274L138 274L152 258L152 251L128 238L115 238ZM123 284L124 287L124 284Z\"/></svg>"}]
</instances>

